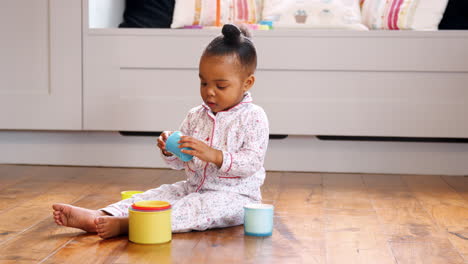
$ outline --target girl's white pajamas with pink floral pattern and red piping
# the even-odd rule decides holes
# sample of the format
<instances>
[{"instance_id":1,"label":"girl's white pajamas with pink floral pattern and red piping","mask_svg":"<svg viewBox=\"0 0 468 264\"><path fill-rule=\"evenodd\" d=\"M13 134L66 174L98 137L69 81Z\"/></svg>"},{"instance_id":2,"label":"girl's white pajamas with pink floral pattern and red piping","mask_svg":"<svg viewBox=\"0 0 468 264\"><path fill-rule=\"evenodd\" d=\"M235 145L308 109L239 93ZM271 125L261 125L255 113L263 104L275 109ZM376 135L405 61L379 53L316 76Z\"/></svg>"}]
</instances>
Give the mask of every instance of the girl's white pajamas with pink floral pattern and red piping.
<instances>
[{"instance_id":1,"label":"girl's white pajamas with pink floral pattern and red piping","mask_svg":"<svg viewBox=\"0 0 468 264\"><path fill-rule=\"evenodd\" d=\"M173 169L184 169L187 180L164 184L101 210L127 216L128 207L136 201L162 200L172 205L173 232L243 224L243 206L262 199L269 136L263 109L252 103L250 93L238 105L216 115L202 104L189 111L180 131L221 150L221 168L196 157L183 162L161 154Z\"/></svg>"}]
</instances>

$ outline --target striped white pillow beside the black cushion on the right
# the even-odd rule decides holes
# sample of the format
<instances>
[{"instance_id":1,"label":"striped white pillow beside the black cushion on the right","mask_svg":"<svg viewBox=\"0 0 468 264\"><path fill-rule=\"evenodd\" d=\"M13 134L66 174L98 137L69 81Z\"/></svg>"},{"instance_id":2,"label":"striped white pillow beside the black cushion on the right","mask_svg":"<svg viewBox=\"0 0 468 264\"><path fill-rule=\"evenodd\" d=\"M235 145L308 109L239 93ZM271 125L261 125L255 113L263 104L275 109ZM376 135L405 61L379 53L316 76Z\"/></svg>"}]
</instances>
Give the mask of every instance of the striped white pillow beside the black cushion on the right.
<instances>
[{"instance_id":1,"label":"striped white pillow beside the black cushion on the right","mask_svg":"<svg viewBox=\"0 0 468 264\"><path fill-rule=\"evenodd\" d=\"M364 0L362 21L370 29L437 30L447 0Z\"/></svg>"}]
</instances>

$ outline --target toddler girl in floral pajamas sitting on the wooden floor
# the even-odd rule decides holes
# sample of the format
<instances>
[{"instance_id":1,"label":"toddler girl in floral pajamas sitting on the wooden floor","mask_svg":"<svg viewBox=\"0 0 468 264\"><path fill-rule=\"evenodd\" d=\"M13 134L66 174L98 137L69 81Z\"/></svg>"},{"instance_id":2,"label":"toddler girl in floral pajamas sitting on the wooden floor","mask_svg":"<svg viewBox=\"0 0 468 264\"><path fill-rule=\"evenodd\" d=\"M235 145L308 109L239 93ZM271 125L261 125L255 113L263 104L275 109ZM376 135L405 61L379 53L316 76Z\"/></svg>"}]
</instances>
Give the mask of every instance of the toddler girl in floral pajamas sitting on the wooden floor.
<instances>
[{"instance_id":1,"label":"toddler girl in floral pajamas sitting on the wooden floor","mask_svg":"<svg viewBox=\"0 0 468 264\"><path fill-rule=\"evenodd\" d=\"M268 120L248 92L255 82L255 47L245 29L227 24L204 50L199 65L203 104L182 122L179 147L193 155L182 162L165 149L172 133L158 138L165 162L184 169L187 180L164 184L99 210L54 204L58 225L97 232L102 238L128 230L128 208L136 201L161 200L172 205L172 231L188 232L241 225L243 206L261 201Z\"/></svg>"}]
</instances>

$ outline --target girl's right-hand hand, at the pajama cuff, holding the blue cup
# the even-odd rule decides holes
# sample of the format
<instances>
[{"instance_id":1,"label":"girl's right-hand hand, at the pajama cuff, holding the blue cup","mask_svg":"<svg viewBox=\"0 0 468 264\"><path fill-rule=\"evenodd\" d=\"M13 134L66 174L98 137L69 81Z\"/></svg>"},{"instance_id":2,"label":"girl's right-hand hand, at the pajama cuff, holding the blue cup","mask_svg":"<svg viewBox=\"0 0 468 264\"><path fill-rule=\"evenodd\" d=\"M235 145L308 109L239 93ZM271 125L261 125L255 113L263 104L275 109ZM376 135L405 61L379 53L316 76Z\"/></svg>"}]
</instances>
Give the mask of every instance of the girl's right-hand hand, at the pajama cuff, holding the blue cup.
<instances>
[{"instance_id":1,"label":"girl's right-hand hand, at the pajama cuff, holding the blue cup","mask_svg":"<svg viewBox=\"0 0 468 264\"><path fill-rule=\"evenodd\" d=\"M195 139L189 136L180 137L179 148L192 148L193 150L182 149L183 153L193 155L203 161L211 162L216 164L218 168L221 168L223 164L223 152L214 149L205 142Z\"/></svg>"}]
</instances>

